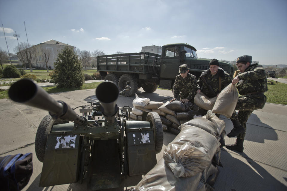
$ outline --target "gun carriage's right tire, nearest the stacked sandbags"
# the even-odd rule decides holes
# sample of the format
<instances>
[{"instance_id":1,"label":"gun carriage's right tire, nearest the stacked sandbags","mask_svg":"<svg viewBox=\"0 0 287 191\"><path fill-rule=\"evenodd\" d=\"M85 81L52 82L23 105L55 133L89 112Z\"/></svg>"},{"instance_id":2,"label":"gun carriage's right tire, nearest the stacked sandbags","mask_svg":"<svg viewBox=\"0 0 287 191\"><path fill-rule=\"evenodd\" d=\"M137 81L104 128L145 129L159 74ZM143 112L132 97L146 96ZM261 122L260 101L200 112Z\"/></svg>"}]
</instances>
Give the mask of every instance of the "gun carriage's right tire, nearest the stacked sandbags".
<instances>
[{"instance_id":1,"label":"gun carriage's right tire, nearest the stacked sandbags","mask_svg":"<svg viewBox=\"0 0 287 191\"><path fill-rule=\"evenodd\" d=\"M162 129L161 118L156 112L149 112L146 116L146 121L149 121L150 127L154 132L155 153L161 152L162 144L164 144L164 131Z\"/></svg>"}]
</instances>

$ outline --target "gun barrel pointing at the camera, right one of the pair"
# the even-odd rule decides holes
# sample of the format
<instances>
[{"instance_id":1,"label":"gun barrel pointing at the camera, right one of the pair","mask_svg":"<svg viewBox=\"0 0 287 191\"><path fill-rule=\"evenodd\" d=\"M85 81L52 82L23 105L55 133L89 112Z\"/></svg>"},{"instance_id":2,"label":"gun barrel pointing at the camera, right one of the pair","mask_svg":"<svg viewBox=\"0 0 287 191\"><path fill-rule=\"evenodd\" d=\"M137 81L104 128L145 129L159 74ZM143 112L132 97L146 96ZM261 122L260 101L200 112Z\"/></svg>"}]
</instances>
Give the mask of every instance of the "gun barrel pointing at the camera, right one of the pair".
<instances>
[{"instance_id":1,"label":"gun barrel pointing at the camera, right one of the pair","mask_svg":"<svg viewBox=\"0 0 287 191\"><path fill-rule=\"evenodd\" d=\"M107 91L108 90L108 91ZM101 111L109 124L114 123L117 115L117 97L119 90L112 81L104 81L96 89L96 96L101 104Z\"/></svg>"}]
</instances>

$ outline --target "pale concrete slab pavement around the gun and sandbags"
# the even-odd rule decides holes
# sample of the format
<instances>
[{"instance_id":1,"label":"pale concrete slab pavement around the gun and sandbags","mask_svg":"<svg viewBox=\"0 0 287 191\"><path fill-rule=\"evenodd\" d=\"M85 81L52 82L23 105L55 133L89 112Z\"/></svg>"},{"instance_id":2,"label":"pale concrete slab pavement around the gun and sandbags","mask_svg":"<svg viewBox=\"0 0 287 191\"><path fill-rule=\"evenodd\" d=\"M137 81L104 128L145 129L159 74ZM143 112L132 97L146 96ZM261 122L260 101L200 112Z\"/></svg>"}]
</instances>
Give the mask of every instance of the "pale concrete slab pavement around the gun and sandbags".
<instances>
[{"instance_id":1,"label":"pale concrete slab pavement around the gun and sandbags","mask_svg":"<svg viewBox=\"0 0 287 191\"><path fill-rule=\"evenodd\" d=\"M65 101L71 107L86 104L96 99L95 89L76 90L72 92L54 93L51 96L56 100ZM170 100L172 93L168 90L156 90L154 93L144 93L138 90L141 98L150 98L151 101ZM133 97L119 96L119 107L132 106ZM247 123L247 134L244 141L244 153L236 153L221 149L223 168L214 185L215 190L287 190L287 106L265 104L265 107L251 114ZM79 112L79 111L76 111ZM0 100L0 155L16 153L33 153L33 175L29 184L23 190L86 190L86 184L65 184L51 187L38 187L42 163L36 158L34 139L37 127L48 112L17 104L8 99ZM229 133L232 123L221 116L226 123L226 132ZM164 132L164 144L157 160L162 158L167 144L175 135ZM233 144L235 138L225 136L227 144ZM136 185L141 177L129 179L129 185Z\"/></svg>"}]
</instances>

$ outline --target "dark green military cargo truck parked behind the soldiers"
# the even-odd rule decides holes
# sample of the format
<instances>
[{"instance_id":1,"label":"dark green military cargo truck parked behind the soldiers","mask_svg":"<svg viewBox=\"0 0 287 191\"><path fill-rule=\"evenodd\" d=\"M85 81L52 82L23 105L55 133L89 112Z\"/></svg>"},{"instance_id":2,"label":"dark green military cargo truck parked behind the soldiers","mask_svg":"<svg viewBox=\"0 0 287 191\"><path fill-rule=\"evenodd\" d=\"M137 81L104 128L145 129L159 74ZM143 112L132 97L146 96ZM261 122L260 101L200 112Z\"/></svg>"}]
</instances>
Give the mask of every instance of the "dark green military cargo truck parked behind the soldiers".
<instances>
[{"instance_id":1,"label":"dark green military cargo truck parked behind the soldiers","mask_svg":"<svg viewBox=\"0 0 287 191\"><path fill-rule=\"evenodd\" d=\"M209 68L209 62L210 59L198 58L195 47L177 43L162 46L161 55L141 52L98 56L97 70L102 79L115 82L121 91L129 87L126 96L133 96L141 87L149 93L158 86L171 89L181 64L187 64L189 73L198 78ZM219 61L219 67L233 76L232 64Z\"/></svg>"}]
</instances>

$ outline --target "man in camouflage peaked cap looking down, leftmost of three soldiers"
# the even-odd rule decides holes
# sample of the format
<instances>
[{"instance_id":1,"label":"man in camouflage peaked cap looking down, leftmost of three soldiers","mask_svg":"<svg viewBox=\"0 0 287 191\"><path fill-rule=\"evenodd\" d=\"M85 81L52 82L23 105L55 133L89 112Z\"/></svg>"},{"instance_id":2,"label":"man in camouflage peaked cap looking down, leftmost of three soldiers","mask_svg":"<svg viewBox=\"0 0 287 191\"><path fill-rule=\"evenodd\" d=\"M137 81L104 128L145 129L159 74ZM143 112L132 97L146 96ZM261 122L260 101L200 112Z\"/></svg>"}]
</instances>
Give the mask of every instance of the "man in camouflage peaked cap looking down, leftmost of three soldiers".
<instances>
[{"instance_id":1,"label":"man in camouflage peaked cap looking down, leftmost of three soldiers","mask_svg":"<svg viewBox=\"0 0 287 191\"><path fill-rule=\"evenodd\" d=\"M194 96L196 93L196 77L188 73L188 68L186 64L181 64L179 66L180 75L175 77L175 82L173 84L173 96L174 100L180 100L183 103L194 102Z\"/></svg>"}]
</instances>

